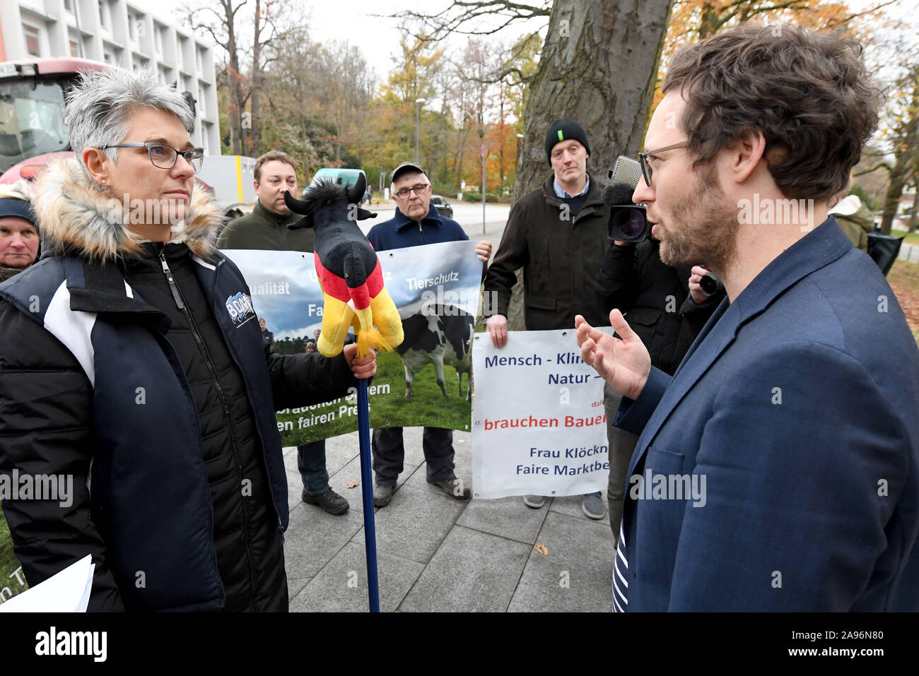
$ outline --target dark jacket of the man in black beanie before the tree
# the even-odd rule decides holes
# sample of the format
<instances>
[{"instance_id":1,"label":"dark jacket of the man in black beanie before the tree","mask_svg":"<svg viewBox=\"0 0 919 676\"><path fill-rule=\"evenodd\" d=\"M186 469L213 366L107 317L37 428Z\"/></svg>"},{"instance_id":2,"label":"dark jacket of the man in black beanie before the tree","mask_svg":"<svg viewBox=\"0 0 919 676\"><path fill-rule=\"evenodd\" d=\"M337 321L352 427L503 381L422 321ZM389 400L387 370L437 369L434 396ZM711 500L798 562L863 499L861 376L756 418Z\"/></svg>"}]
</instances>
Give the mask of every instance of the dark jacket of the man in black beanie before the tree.
<instances>
[{"instance_id":1,"label":"dark jacket of the man in black beanie before the tree","mask_svg":"<svg viewBox=\"0 0 919 676\"><path fill-rule=\"evenodd\" d=\"M494 293L494 312L506 316L516 270L523 267L528 331L573 328L577 314L594 326L609 326L608 313L596 300L597 272L608 242L603 186L591 176L584 205L571 216L555 195L553 178L511 208L485 276L486 298Z\"/></svg>"}]
</instances>

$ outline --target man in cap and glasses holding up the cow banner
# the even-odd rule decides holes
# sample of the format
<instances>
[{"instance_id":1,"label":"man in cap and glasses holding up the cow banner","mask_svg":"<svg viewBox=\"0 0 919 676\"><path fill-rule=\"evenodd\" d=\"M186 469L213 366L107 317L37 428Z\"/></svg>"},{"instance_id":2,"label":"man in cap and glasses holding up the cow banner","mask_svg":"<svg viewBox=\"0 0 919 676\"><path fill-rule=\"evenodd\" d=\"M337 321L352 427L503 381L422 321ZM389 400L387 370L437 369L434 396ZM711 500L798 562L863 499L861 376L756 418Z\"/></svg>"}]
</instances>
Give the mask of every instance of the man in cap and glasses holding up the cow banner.
<instances>
[{"instance_id":1,"label":"man in cap and glasses holding up the cow banner","mask_svg":"<svg viewBox=\"0 0 919 676\"><path fill-rule=\"evenodd\" d=\"M373 226L367 235L376 251L469 240L457 221L440 216L437 208L431 205L431 181L421 164L403 162L397 166L392 172L391 194L396 203L395 216ZM482 263L488 263L492 255L492 242L478 242L475 254ZM373 504L385 507L392 498L396 480L403 470L403 428L375 429L371 446L373 471L377 475ZM452 498L468 500L470 490L453 471L453 430L425 427L422 448L425 452L428 482Z\"/></svg>"}]
</instances>

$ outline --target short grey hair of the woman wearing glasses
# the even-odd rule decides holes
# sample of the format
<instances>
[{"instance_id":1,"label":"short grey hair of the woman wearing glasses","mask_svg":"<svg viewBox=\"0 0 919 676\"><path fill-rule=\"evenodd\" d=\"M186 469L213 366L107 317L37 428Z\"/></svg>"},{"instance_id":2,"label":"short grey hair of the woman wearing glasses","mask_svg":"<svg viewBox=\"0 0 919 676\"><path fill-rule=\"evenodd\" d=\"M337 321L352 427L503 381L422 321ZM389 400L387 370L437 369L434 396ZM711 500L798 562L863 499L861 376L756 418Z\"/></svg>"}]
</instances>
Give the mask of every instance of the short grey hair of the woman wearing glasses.
<instances>
[{"instance_id":1,"label":"short grey hair of the woman wearing glasses","mask_svg":"<svg viewBox=\"0 0 919 676\"><path fill-rule=\"evenodd\" d=\"M149 67L136 71L109 66L102 71L83 71L67 95L64 124L70 132L70 146L83 164L85 148L104 148L119 143L128 133L128 116L137 107L152 107L172 113L190 134L195 117L185 97L159 81ZM105 153L112 162L117 148Z\"/></svg>"}]
</instances>

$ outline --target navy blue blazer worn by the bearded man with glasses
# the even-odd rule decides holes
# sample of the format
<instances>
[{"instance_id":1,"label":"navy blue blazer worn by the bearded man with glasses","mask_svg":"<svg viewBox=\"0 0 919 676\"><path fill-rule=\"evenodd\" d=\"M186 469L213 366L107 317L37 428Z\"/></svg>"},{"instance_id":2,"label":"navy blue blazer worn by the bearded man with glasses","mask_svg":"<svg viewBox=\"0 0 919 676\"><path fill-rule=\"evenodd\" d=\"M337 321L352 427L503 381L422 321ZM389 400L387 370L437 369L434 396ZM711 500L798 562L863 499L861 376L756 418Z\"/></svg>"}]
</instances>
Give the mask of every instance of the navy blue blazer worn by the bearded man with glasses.
<instances>
[{"instance_id":1,"label":"navy blue blazer worn by the bearded man with glasses","mask_svg":"<svg viewBox=\"0 0 919 676\"><path fill-rule=\"evenodd\" d=\"M830 218L623 400L628 610L919 610L917 416L902 309Z\"/></svg>"}]
</instances>

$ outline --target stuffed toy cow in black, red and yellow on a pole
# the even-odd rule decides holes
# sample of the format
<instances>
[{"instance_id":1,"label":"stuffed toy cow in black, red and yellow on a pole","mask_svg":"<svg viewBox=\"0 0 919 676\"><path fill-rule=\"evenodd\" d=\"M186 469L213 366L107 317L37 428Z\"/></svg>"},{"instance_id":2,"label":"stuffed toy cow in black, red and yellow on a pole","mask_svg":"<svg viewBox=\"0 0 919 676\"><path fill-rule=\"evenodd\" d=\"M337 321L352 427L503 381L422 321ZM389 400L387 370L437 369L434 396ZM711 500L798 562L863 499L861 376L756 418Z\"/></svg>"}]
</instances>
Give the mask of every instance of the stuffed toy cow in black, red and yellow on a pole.
<instances>
[{"instance_id":1,"label":"stuffed toy cow in black, red and yellow on a pole","mask_svg":"<svg viewBox=\"0 0 919 676\"><path fill-rule=\"evenodd\" d=\"M365 189L361 175L350 190L320 181L303 199L284 194L288 208L303 215L289 229L316 231L313 258L323 290L323 328L317 348L328 357L342 351L350 326L357 333L358 356L368 355L371 346L393 350L403 342L402 319L383 286L380 260L357 227L357 220L377 216L358 207Z\"/></svg>"}]
</instances>

